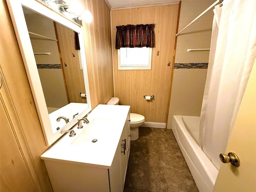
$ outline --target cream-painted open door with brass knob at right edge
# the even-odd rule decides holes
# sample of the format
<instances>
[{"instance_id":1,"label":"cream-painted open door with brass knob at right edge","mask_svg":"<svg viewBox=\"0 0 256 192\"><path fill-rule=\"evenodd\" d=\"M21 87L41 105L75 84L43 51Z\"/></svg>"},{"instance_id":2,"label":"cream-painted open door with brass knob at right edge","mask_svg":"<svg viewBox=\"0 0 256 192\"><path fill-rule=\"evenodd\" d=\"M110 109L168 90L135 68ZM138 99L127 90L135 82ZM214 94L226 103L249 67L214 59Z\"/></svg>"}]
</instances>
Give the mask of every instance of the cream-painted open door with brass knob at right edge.
<instances>
[{"instance_id":1,"label":"cream-painted open door with brass knob at right edge","mask_svg":"<svg viewBox=\"0 0 256 192\"><path fill-rule=\"evenodd\" d=\"M256 60L228 141L226 154L235 152L240 166L222 164L213 192L256 191Z\"/></svg>"}]
</instances>

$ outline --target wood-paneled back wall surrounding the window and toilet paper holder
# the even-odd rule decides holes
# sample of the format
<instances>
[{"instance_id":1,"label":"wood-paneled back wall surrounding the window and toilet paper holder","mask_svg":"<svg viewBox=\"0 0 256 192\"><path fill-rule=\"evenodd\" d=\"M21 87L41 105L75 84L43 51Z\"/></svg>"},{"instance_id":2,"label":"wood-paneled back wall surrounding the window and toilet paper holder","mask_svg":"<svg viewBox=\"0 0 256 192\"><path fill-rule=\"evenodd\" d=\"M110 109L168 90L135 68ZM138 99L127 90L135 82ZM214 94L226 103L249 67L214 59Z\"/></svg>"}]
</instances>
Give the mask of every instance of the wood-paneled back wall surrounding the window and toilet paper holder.
<instances>
[{"instance_id":1,"label":"wood-paneled back wall surrounding the window and toilet paper holder","mask_svg":"<svg viewBox=\"0 0 256 192\"><path fill-rule=\"evenodd\" d=\"M168 115L178 12L179 4L111 11L114 93L120 104L130 105L131 112L144 115L147 122L165 123ZM151 23L155 24L151 70L118 70L116 26ZM155 99L146 101L145 94Z\"/></svg>"}]
</instances>

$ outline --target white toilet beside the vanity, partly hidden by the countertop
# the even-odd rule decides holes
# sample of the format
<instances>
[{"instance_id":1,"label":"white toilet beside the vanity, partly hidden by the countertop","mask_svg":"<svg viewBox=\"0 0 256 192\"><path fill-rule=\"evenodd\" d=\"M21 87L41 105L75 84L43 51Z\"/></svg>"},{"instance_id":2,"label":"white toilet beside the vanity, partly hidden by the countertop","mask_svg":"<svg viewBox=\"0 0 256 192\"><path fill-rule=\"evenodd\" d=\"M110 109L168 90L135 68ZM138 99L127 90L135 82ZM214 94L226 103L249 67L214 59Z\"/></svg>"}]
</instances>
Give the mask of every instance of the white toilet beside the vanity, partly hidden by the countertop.
<instances>
[{"instance_id":1,"label":"white toilet beside the vanity, partly hidden by the countertop","mask_svg":"<svg viewBox=\"0 0 256 192\"><path fill-rule=\"evenodd\" d=\"M118 105L119 98L112 97L106 104L107 105ZM131 134L131 141L137 140L139 138L139 126L145 121L145 117L140 114L130 113L130 134Z\"/></svg>"}]
</instances>

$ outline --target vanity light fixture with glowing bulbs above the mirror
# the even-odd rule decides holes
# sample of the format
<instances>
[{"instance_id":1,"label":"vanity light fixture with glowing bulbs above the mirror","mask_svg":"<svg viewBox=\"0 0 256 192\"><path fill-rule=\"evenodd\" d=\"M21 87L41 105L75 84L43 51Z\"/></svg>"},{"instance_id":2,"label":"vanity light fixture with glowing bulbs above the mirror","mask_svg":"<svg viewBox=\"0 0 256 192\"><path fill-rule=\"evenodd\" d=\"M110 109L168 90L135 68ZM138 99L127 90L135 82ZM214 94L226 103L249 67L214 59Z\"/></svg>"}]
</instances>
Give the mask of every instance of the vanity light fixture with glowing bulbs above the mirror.
<instances>
[{"instance_id":1,"label":"vanity light fixture with glowing bulbs above the mirror","mask_svg":"<svg viewBox=\"0 0 256 192\"><path fill-rule=\"evenodd\" d=\"M85 22L92 22L92 14L90 11L83 11L82 5L78 0L41 0L49 5L52 9L64 14L66 17L74 21L84 20Z\"/></svg>"}]
</instances>

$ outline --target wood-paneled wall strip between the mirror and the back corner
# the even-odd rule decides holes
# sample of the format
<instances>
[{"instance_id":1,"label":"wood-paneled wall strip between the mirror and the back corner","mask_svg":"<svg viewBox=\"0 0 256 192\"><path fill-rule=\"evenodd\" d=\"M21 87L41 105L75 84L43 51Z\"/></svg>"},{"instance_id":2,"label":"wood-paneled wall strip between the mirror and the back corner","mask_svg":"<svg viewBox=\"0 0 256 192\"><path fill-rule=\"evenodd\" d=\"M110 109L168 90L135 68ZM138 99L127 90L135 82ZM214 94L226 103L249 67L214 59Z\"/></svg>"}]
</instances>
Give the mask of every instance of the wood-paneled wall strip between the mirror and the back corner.
<instances>
[{"instance_id":1,"label":"wood-paneled wall strip between the mirror and the back corner","mask_svg":"<svg viewBox=\"0 0 256 192\"><path fill-rule=\"evenodd\" d=\"M86 63L92 109L114 96L110 10L104 0L86 0L92 13L90 24L83 22Z\"/></svg>"}]
</instances>

